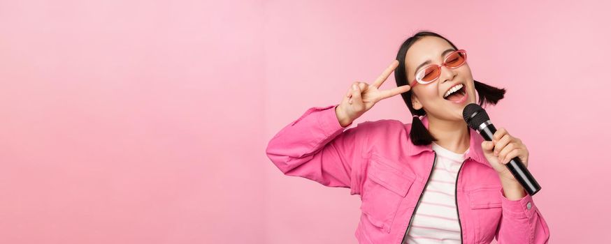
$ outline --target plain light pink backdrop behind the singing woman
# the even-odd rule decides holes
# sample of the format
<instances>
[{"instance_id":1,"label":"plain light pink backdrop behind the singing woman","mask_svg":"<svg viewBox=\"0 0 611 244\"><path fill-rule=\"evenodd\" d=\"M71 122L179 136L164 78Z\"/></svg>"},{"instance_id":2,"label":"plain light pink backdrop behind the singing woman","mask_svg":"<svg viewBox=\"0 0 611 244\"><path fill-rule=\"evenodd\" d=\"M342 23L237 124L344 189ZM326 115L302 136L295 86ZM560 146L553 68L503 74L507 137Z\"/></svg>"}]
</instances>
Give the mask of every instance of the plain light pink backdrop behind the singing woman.
<instances>
[{"instance_id":1,"label":"plain light pink backdrop behind the singing woman","mask_svg":"<svg viewBox=\"0 0 611 244\"><path fill-rule=\"evenodd\" d=\"M419 30L508 90L551 242L608 243L602 2L0 1L0 243L356 243L359 197L264 151Z\"/></svg>"}]
</instances>

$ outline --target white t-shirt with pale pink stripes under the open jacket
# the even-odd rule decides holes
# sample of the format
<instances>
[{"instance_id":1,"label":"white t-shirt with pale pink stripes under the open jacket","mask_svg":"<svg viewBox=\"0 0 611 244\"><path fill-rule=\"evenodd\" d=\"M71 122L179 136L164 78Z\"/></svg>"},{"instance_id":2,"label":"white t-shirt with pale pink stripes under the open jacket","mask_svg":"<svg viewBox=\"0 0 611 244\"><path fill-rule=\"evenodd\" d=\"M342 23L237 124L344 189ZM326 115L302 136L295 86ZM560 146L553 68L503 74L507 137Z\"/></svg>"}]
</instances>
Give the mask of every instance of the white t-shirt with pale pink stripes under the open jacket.
<instances>
[{"instance_id":1,"label":"white t-shirt with pale pink stripes under the open jacket","mask_svg":"<svg viewBox=\"0 0 611 244\"><path fill-rule=\"evenodd\" d=\"M410 244L461 243L454 192L458 171L469 149L464 153L454 153L435 142L432 146L437 158L406 241Z\"/></svg>"}]
</instances>

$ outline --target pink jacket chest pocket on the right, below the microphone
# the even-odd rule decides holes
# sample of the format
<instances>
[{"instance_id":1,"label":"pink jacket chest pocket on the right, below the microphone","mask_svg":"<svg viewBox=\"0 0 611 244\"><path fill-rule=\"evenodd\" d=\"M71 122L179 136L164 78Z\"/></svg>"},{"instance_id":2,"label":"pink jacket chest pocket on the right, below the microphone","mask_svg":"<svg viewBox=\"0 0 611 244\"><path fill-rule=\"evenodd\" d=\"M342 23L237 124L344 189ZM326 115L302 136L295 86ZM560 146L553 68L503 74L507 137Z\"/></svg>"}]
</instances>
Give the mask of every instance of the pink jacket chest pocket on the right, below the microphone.
<instances>
[{"instance_id":1,"label":"pink jacket chest pocket on the right, below the microphone","mask_svg":"<svg viewBox=\"0 0 611 244\"><path fill-rule=\"evenodd\" d=\"M480 185L468 192L477 240L489 243L501 221L501 185Z\"/></svg>"}]
</instances>

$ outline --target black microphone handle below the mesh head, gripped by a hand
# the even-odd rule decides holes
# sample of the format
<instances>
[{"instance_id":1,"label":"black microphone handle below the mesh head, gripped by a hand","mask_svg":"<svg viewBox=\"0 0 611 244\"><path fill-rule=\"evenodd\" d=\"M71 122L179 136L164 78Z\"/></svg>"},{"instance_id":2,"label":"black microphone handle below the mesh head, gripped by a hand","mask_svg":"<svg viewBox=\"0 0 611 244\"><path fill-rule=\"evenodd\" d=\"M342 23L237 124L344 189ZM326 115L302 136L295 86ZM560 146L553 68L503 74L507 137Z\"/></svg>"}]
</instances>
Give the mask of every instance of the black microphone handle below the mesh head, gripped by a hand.
<instances>
[{"instance_id":1,"label":"black microphone handle below the mesh head, gripped by a hand","mask_svg":"<svg viewBox=\"0 0 611 244\"><path fill-rule=\"evenodd\" d=\"M489 121L487 122L488 123L482 123L482 126L480 126L480 128L477 128L477 132L479 132L485 140L492 141L492 138L494 138L494 132L496 132L496 128L492 123L489 123ZM535 195L535 193L541 190L541 186L539 185L539 183L535 181L535 178L533 178L533 175L531 174L529 169L526 169L526 167L522 163L522 160L519 160L518 157L512 158L505 166L508 167L509 171L511 171L511 174L513 174L513 176L517 179L520 185L522 185L524 190L529 193L529 195L533 196Z\"/></svg>"}]
</instances>

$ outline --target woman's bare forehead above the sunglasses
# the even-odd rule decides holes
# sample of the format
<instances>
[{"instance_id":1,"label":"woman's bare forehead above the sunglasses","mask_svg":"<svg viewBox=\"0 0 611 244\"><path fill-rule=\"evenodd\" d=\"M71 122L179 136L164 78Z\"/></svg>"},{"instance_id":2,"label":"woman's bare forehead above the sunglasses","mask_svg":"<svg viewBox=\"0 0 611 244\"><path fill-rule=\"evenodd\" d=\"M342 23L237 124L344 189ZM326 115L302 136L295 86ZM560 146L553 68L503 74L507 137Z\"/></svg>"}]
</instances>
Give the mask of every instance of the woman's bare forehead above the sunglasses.
<instances>
[{"instance_id":1,"label":"woman's bare forehead above the sunglasses","mask_svg":"<svg viewBox=\"0 0 611 244\"><path fill-rule=\"evenodd\" d=\"M448 48L454 48L450 43L436 36L425 36L417 40L405 54L405 68L413 70L420 63L431 60L441 60L440 56Z\"/></svg>"}]
</instances>

